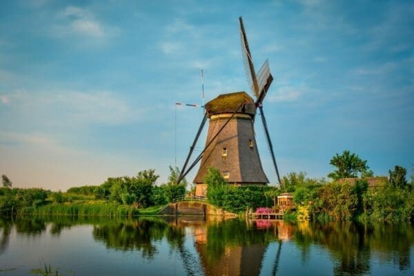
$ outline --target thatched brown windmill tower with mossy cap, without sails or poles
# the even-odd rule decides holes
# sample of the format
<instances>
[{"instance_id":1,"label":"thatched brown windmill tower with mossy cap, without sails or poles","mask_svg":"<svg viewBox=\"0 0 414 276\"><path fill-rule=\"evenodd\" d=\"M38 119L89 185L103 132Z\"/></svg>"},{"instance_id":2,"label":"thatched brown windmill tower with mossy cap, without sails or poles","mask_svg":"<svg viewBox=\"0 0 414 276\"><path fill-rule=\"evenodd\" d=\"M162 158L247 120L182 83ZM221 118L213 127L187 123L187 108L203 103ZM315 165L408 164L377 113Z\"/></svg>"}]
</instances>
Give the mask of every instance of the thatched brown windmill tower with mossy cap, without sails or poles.
<instances>
[{"instance_id":1,"label":"thatched brown windmill tower with mossy cap, without sails or poles","mask_svg":"<svg viewBox=\"0 0 414 276\"><path fill-rule=\"evenodd\" d=\"M242 108L239 108L241 103ZM229 184L267 184L268 178L262 168L255 141L255 101L246 92L228 93L206 103L206 109L208 134L206 150L193 181L197 184L196 195L206 195L204 179L210 167L220 170ZM228 124L223 128L227 121Z\"/></svg>"}]
</instances>

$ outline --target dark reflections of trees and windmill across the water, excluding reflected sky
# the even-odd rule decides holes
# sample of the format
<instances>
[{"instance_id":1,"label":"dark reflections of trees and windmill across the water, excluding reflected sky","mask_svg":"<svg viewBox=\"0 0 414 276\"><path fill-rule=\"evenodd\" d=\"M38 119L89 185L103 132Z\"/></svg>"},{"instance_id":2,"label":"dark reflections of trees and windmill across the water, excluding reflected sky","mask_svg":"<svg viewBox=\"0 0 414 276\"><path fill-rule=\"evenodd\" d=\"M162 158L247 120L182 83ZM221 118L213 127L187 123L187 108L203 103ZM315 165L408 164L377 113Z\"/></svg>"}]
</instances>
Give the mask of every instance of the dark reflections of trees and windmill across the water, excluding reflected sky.
<instances>
[{"instance_id":1,"label":"dark reflections of trees and windmill across the water, excluding reflected sky","mask_svg":"<svg viewBox=\"0 0 414 276\"><path fill-rule=\"evenodd\" d=\"M276 275L282 269L281 262L306 267L315 246L331 258L335 275L368 274L374 257L380 265L392 264L399 270L410 270L413 262L414 228L410 224L288 224L215 217L0 218L0 255L8 250L13 231L17 238L42 233L63 238L63 229L77 225L91 225L93 240L105 248L139 253L139 258L148 262L155 262L166 250L161 245L166 244L170 256L179 256L187 275L259 275L266 266ZM284 244L299 251L302 264L300 259L290 258Z\"/></svg>"}]
</instances>

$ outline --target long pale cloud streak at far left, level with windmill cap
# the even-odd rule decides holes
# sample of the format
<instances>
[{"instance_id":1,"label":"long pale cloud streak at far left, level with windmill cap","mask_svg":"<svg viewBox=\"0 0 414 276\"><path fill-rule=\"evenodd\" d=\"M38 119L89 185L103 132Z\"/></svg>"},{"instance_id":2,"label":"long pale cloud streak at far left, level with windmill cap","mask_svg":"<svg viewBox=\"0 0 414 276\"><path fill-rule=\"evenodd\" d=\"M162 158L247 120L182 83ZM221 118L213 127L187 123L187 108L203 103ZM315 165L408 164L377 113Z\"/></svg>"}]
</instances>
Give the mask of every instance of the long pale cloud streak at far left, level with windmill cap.
<instances>
[{"instance_id":1,"label":"long pale cloud streak at far left, level with windmill cap","mask_svg":"<svg viewBox=\"0 0 414 276\"><path fill-rule=\"evenodd\" d=\"M27 92L14 91L2 95L10 112L16 116L37 119L39 123L54 124L124 124L140 116L126 101L113 92L52 91ZM54 114L54 117L50 117Z\"/></svg>"}]
</instances>

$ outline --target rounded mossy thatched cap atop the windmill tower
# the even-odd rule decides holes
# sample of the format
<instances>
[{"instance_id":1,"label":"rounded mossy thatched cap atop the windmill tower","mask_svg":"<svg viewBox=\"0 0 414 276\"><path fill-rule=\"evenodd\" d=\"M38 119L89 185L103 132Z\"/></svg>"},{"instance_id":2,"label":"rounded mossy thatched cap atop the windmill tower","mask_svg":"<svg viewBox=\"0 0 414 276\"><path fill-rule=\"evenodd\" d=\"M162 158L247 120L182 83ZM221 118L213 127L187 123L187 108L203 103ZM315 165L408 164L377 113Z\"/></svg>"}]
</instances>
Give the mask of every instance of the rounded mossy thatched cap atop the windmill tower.
<instances>
[{"instance_id":1,"label":"rounded mossy thatched cap atop the windmill tower","mask_svg":"<svg viewBox=\"0 0 414 276\"><path fill-rule=\"evenodd\" d=\"M243 102L245 103L243 110L242 108L237 110ZM237 113L253 116L256 114L255 101L244 91L219 95L206 103L206 109L210 115L233 113L235 110L237 110Z\"/></svg>"}]
</instances>

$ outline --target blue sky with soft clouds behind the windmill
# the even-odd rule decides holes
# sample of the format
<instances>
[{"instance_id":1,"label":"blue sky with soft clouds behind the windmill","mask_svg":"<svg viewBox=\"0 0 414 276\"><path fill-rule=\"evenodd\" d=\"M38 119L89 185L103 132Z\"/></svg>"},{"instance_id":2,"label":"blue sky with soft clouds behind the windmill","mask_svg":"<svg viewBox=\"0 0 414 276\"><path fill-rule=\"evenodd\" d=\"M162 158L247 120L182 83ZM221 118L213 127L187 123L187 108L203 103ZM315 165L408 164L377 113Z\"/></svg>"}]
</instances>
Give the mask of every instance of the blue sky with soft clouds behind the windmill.
<instances>
[{"instance_id":1,"label":"blue sky with soft clouds behind the windmill","mask_svg":"<svg viewBox=\"0 0 414 276\"><path fill-rule=\"evenodd\" d=\"M206 100L248 90L239 15L275 79L264 110L282 175L326 177L346 149L376 175L411 172L412 1L37 0L0 3L0 173L52 190L147 168L166 181L201 121L177 108L175 143L174 103L201 103L199 70Z\"/></svg>"}]
</instances>

